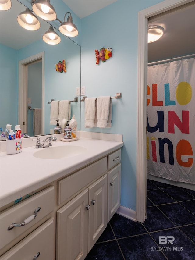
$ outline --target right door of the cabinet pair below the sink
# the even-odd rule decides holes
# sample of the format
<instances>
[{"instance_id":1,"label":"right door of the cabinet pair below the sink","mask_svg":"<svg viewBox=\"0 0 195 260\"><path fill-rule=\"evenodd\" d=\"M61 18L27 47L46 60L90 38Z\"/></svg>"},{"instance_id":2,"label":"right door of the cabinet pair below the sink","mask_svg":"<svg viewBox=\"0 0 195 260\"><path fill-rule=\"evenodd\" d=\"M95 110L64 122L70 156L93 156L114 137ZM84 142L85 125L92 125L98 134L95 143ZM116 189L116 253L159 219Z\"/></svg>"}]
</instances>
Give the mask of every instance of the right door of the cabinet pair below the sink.
<instances>
[{"instance_id":1,"label":"right door of the cabinet pair below the sink","mask_svg":"<svg viewBox=\"0 0 195 260\"><path fill-rule=\"evenodd\" d=\"M107 226L107 174L89 187L88 252Z\"/></svg>"}]
</instances>

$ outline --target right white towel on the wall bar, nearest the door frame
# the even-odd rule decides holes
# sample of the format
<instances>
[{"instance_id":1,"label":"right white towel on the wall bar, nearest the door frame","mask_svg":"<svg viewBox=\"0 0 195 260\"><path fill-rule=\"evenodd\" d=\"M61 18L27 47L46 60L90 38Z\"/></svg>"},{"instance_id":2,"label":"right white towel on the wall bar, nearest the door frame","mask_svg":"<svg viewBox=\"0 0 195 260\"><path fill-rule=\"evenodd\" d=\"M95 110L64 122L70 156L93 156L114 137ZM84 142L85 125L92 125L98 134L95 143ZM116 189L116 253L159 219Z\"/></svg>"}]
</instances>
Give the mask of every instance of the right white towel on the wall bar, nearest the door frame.
<instances>
[{"instance_id":1,"label":"right white towel on the wall bar, nearest the door frame","mask_svg":"<svg viewBox=\"0 0 195 260\"><path fill-rule=\"evenodd\" d=\"M100 128L111 127L112 99L110 97L111 96L98 97L97 126Z\"/></svg>"}]
</instances>

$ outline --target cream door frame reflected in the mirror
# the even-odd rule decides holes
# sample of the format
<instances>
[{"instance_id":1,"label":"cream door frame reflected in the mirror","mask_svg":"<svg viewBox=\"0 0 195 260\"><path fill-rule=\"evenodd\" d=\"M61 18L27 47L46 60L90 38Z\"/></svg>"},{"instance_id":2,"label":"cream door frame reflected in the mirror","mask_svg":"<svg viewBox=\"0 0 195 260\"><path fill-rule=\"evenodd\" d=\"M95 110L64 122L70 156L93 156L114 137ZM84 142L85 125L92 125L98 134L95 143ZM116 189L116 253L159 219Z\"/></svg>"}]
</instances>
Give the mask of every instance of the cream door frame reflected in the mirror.
<instances>
[{"instance_id":1,"label":"cream door frame reflected in the mirror","mask_svg":"<svg viewBox=\"0 0 195 260\"><path fill-rule=\"evenodd\" d=\"M37 53L19 61L18 79L18 124L22 133L27 133L27 64L42 59L42 127L41 134L44 134L44 52ZM23 125L25 122L25 125Z\"/></svg>"}]
</instances>

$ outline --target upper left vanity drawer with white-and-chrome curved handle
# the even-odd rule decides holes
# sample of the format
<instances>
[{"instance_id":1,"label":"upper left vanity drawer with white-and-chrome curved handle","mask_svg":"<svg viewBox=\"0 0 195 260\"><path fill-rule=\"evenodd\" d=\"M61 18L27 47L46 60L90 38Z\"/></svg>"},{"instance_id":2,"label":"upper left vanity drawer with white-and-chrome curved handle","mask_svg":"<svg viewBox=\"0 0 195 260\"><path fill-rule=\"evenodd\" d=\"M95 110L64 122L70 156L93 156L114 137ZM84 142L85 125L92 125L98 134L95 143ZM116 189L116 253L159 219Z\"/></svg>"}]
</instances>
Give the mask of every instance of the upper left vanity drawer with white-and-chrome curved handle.
<instances>
[{"instance_id":1,"label":"upper left vanity drawer with white-and-chrome curved handle","mask_svg":"<svg viewBox=\"0 0 195 260\"><path fill-rule=\"evenodd\" d=\"M34 215L34 211L38 207L41 209L37 212L36 218L30 223L25 226L15 226L13 229L8 230L12 223L20 224L28 217ZM53 208L54 186L51 186L1 212L0 230L3 236L0 236L0 249L52 212Z\"/></svg>"}]
</instances>

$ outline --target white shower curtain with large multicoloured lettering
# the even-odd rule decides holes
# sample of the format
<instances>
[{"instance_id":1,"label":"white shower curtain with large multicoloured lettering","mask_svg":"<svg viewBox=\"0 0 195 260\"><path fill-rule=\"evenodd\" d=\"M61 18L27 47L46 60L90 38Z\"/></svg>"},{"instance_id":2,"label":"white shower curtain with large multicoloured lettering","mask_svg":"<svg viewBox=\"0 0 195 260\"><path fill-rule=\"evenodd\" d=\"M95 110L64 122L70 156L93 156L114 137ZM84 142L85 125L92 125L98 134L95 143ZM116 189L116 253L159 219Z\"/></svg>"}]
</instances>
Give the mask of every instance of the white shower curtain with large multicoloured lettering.
<instances>
[{"instance_id":1,"label":"white shower curtain with large multicoloured lettering","mask_svg":"<svg viewBox=\"0 0 195 260\"><path fill-rule=\"evenodd\" d=\"M195 58L148 66L147 173L195 184Z\"/></svg>"}]
</instances>

